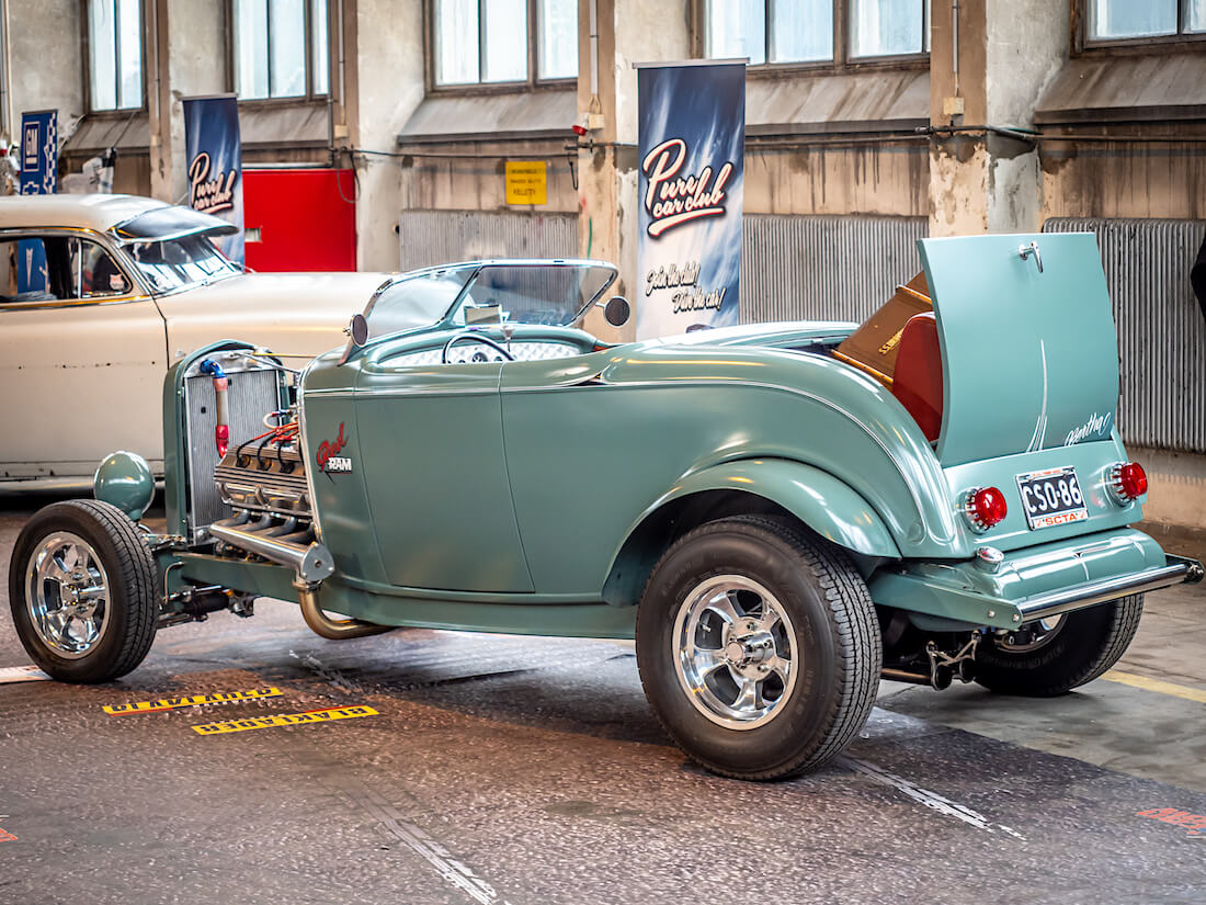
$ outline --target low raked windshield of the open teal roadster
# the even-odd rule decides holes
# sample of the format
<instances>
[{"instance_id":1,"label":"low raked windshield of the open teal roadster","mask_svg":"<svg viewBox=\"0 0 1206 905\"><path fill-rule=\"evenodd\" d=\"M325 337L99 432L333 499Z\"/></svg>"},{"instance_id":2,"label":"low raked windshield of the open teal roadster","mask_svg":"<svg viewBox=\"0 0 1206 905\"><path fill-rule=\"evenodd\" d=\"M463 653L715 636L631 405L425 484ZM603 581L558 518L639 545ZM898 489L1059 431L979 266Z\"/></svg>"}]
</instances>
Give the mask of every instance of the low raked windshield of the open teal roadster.
<instances>
[{"instance_id":1,"label":"low raked windshield of the open teal roadster","mask_svg":"<svg viewBox=\"0 0 1206 905\"><path fill-rule=\"evenodd\" d=\"M403 276L369 303L369 339L441 322L567 326L614 280L610 264L593 262L499 262Z\"/></svg>"}]
</instances>

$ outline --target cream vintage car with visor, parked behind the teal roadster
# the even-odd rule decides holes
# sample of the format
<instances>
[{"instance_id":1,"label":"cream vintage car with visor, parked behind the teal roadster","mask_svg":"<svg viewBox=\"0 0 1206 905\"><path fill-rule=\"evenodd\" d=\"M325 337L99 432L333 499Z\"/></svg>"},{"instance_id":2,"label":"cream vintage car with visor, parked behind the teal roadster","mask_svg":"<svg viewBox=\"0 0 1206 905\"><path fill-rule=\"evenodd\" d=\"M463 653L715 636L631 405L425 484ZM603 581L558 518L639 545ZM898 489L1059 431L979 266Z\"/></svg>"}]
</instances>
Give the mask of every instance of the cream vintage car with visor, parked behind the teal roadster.
<instances>
[{"instance_id":1,"label":"cream vintage car with visor, parked behind the teal roadster","mask_svg":"<svg viewBox=\"0 0 1206 905\"><path fill-rule=\"evenodd\" d=\"M247 274L230 223L150 198L0 198L0 481L90 480L110 450L163 472L163 378L239 337L309 360L385 274Z\"/></svg>"}]
</instances>

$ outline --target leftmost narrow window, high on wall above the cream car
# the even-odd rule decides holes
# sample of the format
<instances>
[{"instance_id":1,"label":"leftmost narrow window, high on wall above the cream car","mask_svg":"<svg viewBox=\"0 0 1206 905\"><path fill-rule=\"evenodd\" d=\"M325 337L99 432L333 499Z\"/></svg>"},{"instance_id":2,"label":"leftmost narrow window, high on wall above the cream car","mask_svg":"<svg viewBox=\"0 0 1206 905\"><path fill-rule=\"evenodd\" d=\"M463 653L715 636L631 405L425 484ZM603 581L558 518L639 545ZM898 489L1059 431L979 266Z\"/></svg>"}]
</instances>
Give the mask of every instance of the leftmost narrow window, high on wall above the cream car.
<instances>
[{"instance_id":1,"label":"leftmost narrow window, high on wall above the cream car","mask_svg":"<svg viewBox=\"0 0 1206 905\"><path fill-rule=\"evenodd\" d=\"M142 106L141 0L88 0L92 110Z\"/></svg>"}]
</instances>

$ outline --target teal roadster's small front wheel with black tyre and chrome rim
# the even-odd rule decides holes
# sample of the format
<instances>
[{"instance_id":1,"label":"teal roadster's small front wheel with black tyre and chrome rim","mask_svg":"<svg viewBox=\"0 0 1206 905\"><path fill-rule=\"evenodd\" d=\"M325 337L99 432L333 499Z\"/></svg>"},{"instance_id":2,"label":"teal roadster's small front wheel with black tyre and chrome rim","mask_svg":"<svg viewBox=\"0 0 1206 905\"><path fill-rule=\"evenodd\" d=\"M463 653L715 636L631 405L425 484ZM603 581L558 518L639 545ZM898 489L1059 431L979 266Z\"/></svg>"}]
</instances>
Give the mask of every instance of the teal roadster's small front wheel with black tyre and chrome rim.
<instances>
[{"instance_id":1,"label":"teal roadster's small front wheel with black tyre and chrome rim","mask_svg":"<svg viewBox=\"0 0 1206 905\"><path fill-rule=\"evenodd\" d=\"M21 643L60 682L107 682L151 649L156 567L134 522L115 506L46 507L22 530L8 565Z\"/></svg>"}]
</instances>

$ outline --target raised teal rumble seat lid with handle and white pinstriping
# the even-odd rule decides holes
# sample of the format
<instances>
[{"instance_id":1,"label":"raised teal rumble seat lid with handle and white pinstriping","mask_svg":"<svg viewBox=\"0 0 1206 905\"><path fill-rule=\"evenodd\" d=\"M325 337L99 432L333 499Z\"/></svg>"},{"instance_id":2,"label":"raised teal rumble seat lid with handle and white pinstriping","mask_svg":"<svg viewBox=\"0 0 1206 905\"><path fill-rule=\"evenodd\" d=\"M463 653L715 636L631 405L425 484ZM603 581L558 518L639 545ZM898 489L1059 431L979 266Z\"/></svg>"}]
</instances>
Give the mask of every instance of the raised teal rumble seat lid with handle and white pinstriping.
<instances>
[{"instance_id":1,"label":"raised teal rumble seat lid with handle and white pinstriping","mask_svg":"<svg viewBox=\"0 0 1206 905\"><path fill-rule=\"evenodd\" d=\"M1036 244L1023 259L1019 247ZM1105 439L1118 338L1093 233L918 243L943 360L946 466Z\"/></svg>"}]
</instances>

